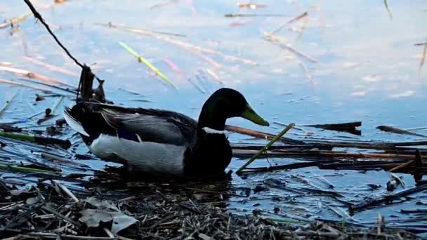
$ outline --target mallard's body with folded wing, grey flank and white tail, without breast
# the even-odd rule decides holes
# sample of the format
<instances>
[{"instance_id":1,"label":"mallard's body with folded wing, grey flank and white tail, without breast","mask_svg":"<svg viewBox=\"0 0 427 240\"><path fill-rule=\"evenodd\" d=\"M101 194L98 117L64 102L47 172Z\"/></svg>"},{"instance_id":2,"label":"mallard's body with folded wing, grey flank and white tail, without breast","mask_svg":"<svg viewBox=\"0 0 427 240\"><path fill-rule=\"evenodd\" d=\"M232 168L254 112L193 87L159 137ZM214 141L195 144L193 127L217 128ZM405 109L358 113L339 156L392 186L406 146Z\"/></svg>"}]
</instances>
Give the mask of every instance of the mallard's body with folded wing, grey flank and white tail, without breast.
<instances>
[{"instance_id":1,"label":"mallard's body with folded wing, grey flank and white tail, without breast","mask_svg":"<svg viewBox=\"0 0 427 240\"><path fill-rule=\"evenodd\" d=\"M197 141L195 119L158 109L88 102L76 106L65 109L65 120L100 159L124 164L133 172L184 174L185 152Z\"/></svg>"}]
</instances>

